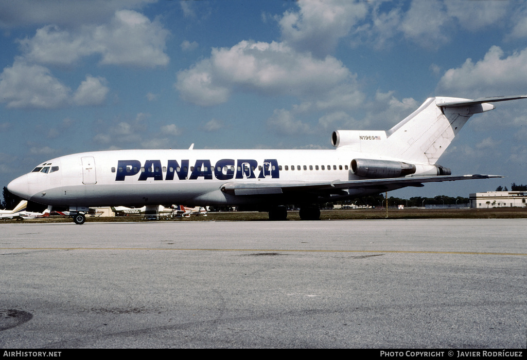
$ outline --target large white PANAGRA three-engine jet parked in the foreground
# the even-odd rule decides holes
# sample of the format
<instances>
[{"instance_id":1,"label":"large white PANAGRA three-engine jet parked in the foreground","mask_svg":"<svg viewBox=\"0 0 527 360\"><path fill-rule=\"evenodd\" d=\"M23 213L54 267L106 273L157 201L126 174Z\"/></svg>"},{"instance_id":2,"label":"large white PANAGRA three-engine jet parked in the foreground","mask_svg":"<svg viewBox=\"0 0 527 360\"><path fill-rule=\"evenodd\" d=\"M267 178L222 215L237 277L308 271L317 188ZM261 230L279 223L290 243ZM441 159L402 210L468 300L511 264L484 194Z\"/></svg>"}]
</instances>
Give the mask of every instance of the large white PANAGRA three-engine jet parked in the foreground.
<instances>
[{"instance_id":1,"label":"large white PANAGRA three-engine jet parked in the foreground","mask_svg":"<svg viewBox=\"0 0 527 360\"><path fill-rule=\"evenodd\" d=\"M426 182L489 179L455 176L437 164L454 136L493 102L527 95L478 99L428 98L389 130L337 130L330 150L111 150L47 160L7 189L34 202L69 207L83 224L89 206L142 207L162 203L232 205L268 211L286 220L286 204L300 205L302 220L318 220L318 203L335 202Z\"/></svg>"}]
</instances>

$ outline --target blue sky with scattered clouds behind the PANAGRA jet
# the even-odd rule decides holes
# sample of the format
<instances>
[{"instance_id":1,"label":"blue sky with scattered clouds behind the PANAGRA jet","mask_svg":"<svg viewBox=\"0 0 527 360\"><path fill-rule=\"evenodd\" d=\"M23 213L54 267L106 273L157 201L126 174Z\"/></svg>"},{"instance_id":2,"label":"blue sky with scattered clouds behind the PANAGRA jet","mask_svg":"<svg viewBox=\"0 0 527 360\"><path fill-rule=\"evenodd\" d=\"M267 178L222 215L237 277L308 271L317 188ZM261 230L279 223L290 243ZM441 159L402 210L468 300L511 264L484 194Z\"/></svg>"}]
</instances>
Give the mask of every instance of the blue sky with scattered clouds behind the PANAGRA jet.
<instances>
[{"instance_id":1,"label":"blue sky with scattered clouds behind the PANAGRA jet","mask_svg":"<svg viewBox=\"0 0 527 360\"><path fill-rule=\"evenodd\" d=\"M70 153L331 149L428 97L527 94L524 1L0 2L0 186ZM438 161L527 183L527 101L475 115ZM350 159L351 160L351 159Z\"/></svg>"}]
</instances>

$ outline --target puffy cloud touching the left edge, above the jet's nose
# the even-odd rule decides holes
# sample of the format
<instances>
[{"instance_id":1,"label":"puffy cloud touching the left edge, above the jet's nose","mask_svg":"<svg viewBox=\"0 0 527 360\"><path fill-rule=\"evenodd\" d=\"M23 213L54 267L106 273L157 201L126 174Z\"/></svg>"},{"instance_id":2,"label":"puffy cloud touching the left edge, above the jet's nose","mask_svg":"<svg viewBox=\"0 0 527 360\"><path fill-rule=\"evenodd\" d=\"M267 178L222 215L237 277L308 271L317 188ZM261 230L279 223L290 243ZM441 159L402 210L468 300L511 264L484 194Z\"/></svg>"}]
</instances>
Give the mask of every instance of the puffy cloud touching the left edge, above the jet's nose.
<instances>
[{"instance_id":1,"label":"puffy cloud touching the left edge, above the jet's nose","mask_svg":"<svg viewBox=\"0 0 527 360\"><path fill-rule=\"evenodd\" d=\"M70 93L49 69L23 60L15 60L0 74L0 102L8 108L59 108L67 104Z\"/></svg>"}]
</instances>

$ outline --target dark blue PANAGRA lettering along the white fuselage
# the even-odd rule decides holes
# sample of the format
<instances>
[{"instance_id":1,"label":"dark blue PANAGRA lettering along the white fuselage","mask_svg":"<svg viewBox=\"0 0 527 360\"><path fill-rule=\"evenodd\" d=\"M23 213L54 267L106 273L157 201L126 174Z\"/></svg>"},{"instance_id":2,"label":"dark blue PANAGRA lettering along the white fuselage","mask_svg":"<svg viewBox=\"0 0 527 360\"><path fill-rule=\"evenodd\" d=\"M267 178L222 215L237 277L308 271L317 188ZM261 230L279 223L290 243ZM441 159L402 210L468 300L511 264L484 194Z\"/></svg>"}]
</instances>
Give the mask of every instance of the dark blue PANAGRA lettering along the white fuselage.
<instances>
[{"instance_id":1,"label":"dark blue PANAGRA lettering along the white fuselage","mask_svg":"<svg viewBox=\"0 0 527 360\"><path fill-rule=\"evenodd\" d=\"M280 178L276 159L265 159L260 167L258 167L258 161L253 159L237 159L236 161L235 159L221 159L213 167L208 159L196 160L193 167L189 167L189 160L181 160L181 166L177 160L168 160L165 170L163 170L161 160L146 160L143 167L139 160L119 160L115 181L124 181L127 176L134 176L139 172L141 174L138 181L145 181L149 178L163 180L163 171L167 172L164 180L174 180L174 174L178 174L179 180L197 180L198 178L212 180L212 173L218 180L256 179L257 169L260 171L258 179Z\"/></svg>"}]
</instances>

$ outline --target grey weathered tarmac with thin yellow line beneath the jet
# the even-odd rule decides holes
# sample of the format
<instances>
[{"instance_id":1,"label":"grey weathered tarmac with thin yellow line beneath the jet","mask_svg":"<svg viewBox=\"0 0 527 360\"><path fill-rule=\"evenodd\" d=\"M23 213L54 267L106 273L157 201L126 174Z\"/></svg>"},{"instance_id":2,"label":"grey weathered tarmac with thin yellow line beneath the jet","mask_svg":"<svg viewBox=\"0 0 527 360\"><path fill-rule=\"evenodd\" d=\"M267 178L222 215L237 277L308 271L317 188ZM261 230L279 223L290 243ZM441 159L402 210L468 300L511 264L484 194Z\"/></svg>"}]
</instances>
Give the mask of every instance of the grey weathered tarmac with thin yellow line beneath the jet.
<instances>
[{"instance_id":1,"label":"grey weathered tarmac with thin yellow line beneath the jet","mask_svg":"<svg viewBox=\"0 0 527 360\"><path fill-rule=\"evenodd\" d=\"M526 230L0 223L0 348L525 348Z\"/></svg>"}]
</instances>

